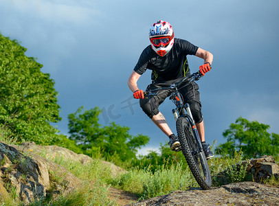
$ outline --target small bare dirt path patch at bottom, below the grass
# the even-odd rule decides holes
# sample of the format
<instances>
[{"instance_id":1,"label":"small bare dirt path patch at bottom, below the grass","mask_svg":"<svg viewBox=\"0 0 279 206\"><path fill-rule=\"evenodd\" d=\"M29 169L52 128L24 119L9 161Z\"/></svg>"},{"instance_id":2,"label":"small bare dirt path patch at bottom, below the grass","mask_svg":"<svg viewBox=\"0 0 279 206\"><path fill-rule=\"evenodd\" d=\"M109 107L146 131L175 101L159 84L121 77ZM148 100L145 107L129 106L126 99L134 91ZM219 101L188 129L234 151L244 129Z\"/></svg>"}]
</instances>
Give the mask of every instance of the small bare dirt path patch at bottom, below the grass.
<instances>
[{"instance_id":1,"label":"small bare dirt path patch at bottom, below the grass","mask_svg":"<svg viewBox=\"0 0 279 206\"><path fill-rule=\"evenodd\" d=\"M118 190L114 187L109 188L109 198L111 200L116 199L116 203L118 205L128 205L131 203L136 203L137 202L137 195L131 194L129 192L124 192L122 190Z\"/></svg>"}]
</instances>

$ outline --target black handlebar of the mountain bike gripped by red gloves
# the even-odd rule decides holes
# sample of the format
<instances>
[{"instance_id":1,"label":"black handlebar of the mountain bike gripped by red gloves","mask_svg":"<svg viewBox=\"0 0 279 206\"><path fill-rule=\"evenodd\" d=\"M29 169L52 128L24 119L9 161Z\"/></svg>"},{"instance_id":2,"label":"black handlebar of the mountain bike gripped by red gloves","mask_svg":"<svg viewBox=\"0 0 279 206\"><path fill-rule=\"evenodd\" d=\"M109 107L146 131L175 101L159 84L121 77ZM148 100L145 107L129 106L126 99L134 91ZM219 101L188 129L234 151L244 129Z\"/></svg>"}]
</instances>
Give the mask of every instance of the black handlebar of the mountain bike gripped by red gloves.
<instances>
[{"instance_id":1,"label":"black handlebar of the mountain bike gripped by red gloves","mask_svg":"<svg viewBox=\"0 0 279 206\"><path fill-rule=\"evenodd\" d=\"M180 80L177 84L170 84L170 87L160 87L160 88L156 88L156 89L152 89L152 90L147 90L144 92L144 96L146 97L147 95L157 95L156 93L154 93L155 91L159 91L159 90L173 90L175 91L175 89L177 89L177 87L179 87L183 82L185 82L186 80L188 80L188 83L190 84L190 82L192 81L197 81L199 80L203 75L201 74L200 71L197 71L195 73L192 73L190 76L187 76L185 78L183 78L182 80ZM189 80L190 79L190 80Z\"/></svg>"}]
</instances>

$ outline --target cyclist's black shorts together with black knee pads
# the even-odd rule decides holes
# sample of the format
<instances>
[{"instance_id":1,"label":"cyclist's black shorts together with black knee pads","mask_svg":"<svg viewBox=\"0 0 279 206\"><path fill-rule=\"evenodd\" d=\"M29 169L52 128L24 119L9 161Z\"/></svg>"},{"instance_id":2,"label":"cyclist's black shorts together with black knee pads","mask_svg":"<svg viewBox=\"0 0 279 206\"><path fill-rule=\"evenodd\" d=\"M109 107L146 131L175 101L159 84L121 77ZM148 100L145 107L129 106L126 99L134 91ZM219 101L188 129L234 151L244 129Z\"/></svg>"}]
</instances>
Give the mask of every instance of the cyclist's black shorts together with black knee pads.
<instances>
[{"instance_id":1,"label":"cyclist's black shorts together with black knee pads","mask_svg":"<svg viewBox=\"0 0 279 206\"><path fill-rule=\"evenodd\" d=\"M192 116L194 121L200 123L203 121L203 115L201 113L201 102L199 100L199 85L196 82L191 82L186 85L182 84L179 87L179 93L183 97L183 104L190 104L190 109L192 111ZM159 87L168 87L168 85L160 84L149 84L147 89L156 89ZM157 95L150 96L148 98L140 99L139 105L148 117L152 118L154 115L159 113L159 105L164 102L164 100L170 96L171 91L160 90L157 91Z\"/></svg>"}]
</instances>

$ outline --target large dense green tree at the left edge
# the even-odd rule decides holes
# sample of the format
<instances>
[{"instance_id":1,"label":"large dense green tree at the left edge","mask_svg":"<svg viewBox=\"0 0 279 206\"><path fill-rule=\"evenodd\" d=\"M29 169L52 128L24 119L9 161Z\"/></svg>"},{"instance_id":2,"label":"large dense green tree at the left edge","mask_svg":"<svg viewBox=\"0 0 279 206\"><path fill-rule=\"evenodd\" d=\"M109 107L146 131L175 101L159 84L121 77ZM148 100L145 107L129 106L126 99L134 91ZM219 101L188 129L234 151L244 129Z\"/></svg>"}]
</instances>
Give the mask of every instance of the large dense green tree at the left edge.
<instances>
[{"instance_id":1,"label":"large dense green tree at the left edge","mask_svg":"<svg viewBox=\"0 0 279 206\"><path fill-rule=\"evenodd\" d=\"M25 56L27 49L0 34L0 125L7 125L19 142L54 144L58 130L58 93L43 65Z\"/></svg>"}]
</instances>

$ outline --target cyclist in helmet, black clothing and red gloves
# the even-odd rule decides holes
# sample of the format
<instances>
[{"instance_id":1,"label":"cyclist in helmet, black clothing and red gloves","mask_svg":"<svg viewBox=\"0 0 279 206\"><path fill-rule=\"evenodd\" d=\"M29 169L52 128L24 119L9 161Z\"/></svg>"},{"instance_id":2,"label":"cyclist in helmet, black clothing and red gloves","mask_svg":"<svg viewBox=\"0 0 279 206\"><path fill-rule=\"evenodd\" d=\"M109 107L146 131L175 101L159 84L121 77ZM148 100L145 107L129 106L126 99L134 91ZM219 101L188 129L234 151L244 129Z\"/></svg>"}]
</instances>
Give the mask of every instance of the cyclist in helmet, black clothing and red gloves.
<instances>
[{"instance_id":1,"label":"cyclist in helmet, black clothing and red gloves","mask_svg":"<svg viewBox=\"0 0 279 206\"><path fill-rule=\"evenodd\" d=\"M166 123L164 115L159 111L159 105L170 95L168 91L158 91L158 95L144 98L144 91L137 87L137 80L146 69L150 69L152 84L148 89L158 87L167 87L172 83L179 82L185 76L190 76L187 55L195 55L203 58L204 63L199 67L202 75L210 71L213 55L192 43L174 38L174 32L170 23L166 21L157 21L150 27L149 31L150 45L142 52L137 65L133 69L128 80L128 85L133 91L134 98L139 99L139 105L152 121L170 138L170 149L176 152L181 150L179 139L172 133ZM187 83L187 82L186 82ZM183 97L184 104L190 104L190 109L194 121L197 124L199 136L203 144L205 157L210 159L214 157L210 150L210 145L205 143L205 132L203 115L201 113L201 102L199 100L199 86L196 82L186 85L182 84L179 92Z\"/></svg>"}]
</instances>

